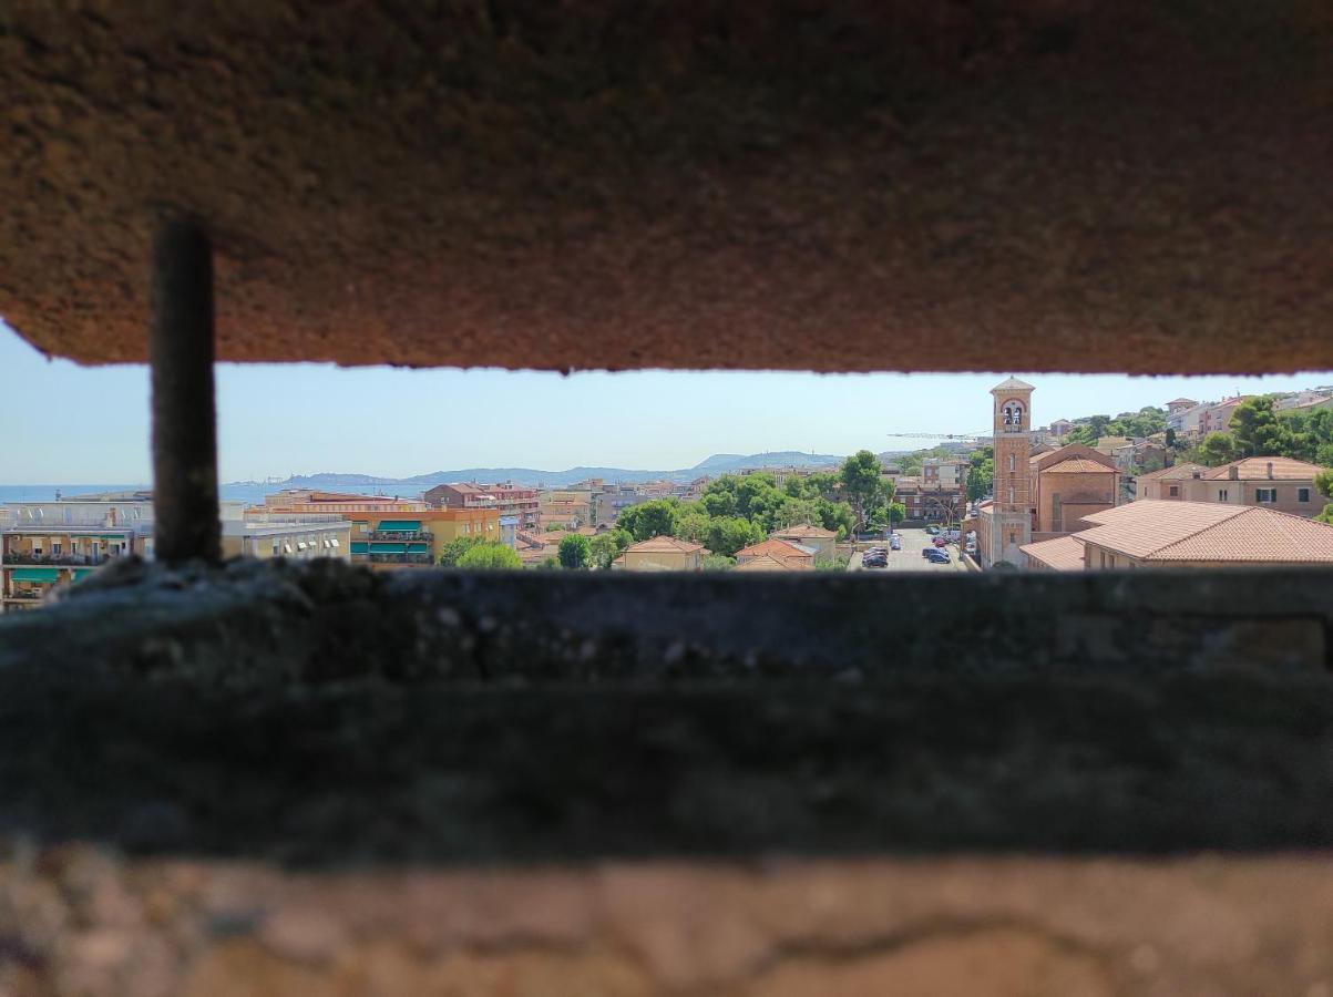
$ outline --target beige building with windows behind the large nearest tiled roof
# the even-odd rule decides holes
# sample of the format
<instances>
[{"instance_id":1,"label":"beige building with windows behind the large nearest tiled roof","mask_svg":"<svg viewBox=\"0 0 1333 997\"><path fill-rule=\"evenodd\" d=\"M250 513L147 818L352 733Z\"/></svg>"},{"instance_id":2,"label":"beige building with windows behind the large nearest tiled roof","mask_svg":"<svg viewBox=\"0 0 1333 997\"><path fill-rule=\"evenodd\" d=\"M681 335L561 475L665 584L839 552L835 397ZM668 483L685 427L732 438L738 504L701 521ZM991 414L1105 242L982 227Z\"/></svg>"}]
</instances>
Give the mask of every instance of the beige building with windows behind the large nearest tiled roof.
<instances>
[{"instance_id":1,"label":"beige building with windows behind the large nearest tiled roof","mask_svg":"<svg viewBox=\"0 0 1333 997\"><path fill-rule=\"evenodd\" d=\"M1244 457L1220 468L1182 464L1140 475L1140 500L1262 505L1292 516L1313 517L1324 509L1314 488L1322 471L1292 457Z\"/></svg>"}]
</instances>

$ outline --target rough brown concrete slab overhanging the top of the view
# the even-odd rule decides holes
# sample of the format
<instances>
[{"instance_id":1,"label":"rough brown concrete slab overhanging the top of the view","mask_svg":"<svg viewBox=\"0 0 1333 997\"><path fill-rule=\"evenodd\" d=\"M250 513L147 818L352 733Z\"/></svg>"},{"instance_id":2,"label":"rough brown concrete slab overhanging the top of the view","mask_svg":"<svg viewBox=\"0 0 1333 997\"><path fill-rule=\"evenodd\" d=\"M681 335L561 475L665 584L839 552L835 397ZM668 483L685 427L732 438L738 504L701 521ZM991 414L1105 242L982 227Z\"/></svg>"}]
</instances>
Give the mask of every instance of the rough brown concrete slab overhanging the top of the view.
<instances>
[{"instance_id":1,"label":"rough brown concrete slab overhanging the top of the view","mask_svg":"<svg viewBox=\"0 0 1333 997\"><path fill-rule=\"evenodd\" d=\"M143 360L172 209L224 360L1330 368L1330 9L15 0L0 315Z\"/></svg>"}]
</instances>

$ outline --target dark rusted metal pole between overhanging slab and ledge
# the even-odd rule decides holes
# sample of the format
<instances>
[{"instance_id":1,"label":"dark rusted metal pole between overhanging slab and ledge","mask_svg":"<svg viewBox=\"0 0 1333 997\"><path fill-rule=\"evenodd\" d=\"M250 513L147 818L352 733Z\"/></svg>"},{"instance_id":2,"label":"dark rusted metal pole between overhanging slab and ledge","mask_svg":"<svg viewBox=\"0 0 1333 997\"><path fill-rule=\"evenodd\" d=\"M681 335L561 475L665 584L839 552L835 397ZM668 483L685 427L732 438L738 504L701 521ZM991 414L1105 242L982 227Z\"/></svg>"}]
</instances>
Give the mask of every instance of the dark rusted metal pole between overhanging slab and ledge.
<instances>
[{"instance_id":1,"label":"dark rusted metal pole between overhanging slab and ledge","mask_svg":"<svg viewBox=\"0 0 1333 997\"><path fill-rule=\"evenodd\" d=\"M219 561L213 255L197 224L159 227L151 297L156 557Z\"/></svg>"}]
</instances>

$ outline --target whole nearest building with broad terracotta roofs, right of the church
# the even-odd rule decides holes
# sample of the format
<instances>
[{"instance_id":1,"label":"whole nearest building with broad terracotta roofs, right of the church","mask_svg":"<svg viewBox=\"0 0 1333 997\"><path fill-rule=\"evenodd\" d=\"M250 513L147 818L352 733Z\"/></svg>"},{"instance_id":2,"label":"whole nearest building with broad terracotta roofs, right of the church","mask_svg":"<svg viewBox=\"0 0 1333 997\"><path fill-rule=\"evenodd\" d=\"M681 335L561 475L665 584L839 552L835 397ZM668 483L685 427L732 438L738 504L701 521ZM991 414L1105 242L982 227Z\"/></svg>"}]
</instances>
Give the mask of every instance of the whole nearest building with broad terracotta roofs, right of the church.
<instances>
[{"instance_id":1,"label":"whole nearest building with broad terracotta roofs, right of the church","mask_svg":"<svg viewBox=\"0 0 1333 997\"><path fill-rule=\"evenodd\" d=\"M1037 570L1333 564L1333 526L1264 506L1141 500L1080 533L1026 544Z\"/></svg>"}]
</instances>

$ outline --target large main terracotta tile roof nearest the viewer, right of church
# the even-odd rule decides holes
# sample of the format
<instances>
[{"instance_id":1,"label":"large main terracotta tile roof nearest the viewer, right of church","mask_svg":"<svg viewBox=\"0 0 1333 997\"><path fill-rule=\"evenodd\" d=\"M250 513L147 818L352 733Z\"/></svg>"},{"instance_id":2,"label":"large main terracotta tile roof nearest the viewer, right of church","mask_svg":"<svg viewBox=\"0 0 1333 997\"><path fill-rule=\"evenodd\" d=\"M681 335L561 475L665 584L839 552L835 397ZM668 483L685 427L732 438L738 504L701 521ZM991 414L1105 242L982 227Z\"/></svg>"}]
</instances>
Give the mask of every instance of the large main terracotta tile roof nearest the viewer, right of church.
<instances>
[{"instance_id":1,"label":"large main terracotta tile roof nearest the viewer, right of church","mask_svg":"<svg viewBox=\"0 0 1333 997\"><path fill-rule=\"evenodd\" d=\"M1333 562L1333 526L1256 505L1142 500L1084 517L1081 541L1145 561Z\"/></svg>"}]
</instances>

